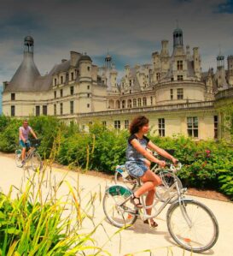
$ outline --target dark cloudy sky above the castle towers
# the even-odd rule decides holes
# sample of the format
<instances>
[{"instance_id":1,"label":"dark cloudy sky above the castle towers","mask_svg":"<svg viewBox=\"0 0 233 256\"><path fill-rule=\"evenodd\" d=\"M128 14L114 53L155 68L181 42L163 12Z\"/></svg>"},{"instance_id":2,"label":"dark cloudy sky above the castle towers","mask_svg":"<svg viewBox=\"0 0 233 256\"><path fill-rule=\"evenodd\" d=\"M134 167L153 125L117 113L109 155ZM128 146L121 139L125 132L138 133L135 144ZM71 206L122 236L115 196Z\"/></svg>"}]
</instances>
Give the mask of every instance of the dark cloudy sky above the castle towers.
<instances>
[{"instance_id":1,"label":"dark cloudy sky above the castle towers","mask_svg":"<svg viewBox=\"0 0 233 256\"><path fill-rule=\"evenodd\" d=\"M202 71L216 68L219 51L225 67L233 55L232 0L0 0L0 17L0 84L20 66L26 35L42 75L79 51L99 66L109 52L120 77L126 64L151 63L162 39L172 54L176 27L184 47L200 47Z\"/></svg>"}]
</instances>

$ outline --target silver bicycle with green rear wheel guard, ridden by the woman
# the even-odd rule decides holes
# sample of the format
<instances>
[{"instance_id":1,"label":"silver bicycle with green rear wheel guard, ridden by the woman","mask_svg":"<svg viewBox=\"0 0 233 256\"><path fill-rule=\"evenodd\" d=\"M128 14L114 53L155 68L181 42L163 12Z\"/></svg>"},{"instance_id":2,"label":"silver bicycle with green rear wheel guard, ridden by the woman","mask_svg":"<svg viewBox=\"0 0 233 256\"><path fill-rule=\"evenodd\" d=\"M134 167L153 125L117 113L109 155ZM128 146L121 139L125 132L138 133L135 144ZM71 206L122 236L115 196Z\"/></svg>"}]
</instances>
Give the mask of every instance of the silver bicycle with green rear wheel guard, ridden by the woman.
<instances>
[{"instance_id":1,"label":"silver bicycle with green rear wheel guard, ridden by the woman","mask_svg":"<svg viewBox=\"0 0 233 256\"><path fill-rule=\"evenodd\" d=\"M178 199L174 201L166 212L167 228L172 239L179 246L195 253L207 251L218 240L218 221L214 217L213 212L195 199L185 198L186 188L180 189L178 186L178 177L174 175L177 171L173 164L170 164L171 174L174 183L167 188L166 193L171 196L156 209L158 200L154 200L152 205L145 204L146 194L140 199L143 204L142 209L138 209L132 202L133 191L125 185L113 185L106 188L103 197L103 211L108 221L119 228L128 228L136 222L137 217L141 217L143 221L157 217L166 205L175 197L176 194L170 193L176 188ZM148 215L146 210L153 208L154 212ZM149 222L150 223L150 222Z\"/></svg>"}]
</instances>

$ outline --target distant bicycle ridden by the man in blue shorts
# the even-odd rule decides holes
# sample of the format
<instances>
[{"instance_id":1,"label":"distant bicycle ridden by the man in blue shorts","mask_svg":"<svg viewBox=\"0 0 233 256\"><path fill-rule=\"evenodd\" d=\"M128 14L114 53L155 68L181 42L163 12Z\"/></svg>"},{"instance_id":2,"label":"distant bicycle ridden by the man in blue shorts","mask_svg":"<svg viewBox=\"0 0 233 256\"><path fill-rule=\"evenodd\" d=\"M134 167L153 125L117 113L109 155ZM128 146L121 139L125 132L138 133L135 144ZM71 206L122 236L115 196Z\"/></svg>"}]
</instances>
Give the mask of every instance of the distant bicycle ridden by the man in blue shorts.
<instances>
[{"instance_id":1,"label":"distant bicycle ridden by the man in blue shorts","mask_svg":"<svg viewBox=\"0 0 233 256\"><path fill-rule=\"evenodd\" d=\"M26 145L28 146L28 150L26 151L25 162L31 160L32 170L41 169L42 161L39 153L37 152L37 148L40 145L41 140L26 140ZM15 163L17 167L23 167L22 164L22 150L15 150Z\"/></svg>"}]
</instances>

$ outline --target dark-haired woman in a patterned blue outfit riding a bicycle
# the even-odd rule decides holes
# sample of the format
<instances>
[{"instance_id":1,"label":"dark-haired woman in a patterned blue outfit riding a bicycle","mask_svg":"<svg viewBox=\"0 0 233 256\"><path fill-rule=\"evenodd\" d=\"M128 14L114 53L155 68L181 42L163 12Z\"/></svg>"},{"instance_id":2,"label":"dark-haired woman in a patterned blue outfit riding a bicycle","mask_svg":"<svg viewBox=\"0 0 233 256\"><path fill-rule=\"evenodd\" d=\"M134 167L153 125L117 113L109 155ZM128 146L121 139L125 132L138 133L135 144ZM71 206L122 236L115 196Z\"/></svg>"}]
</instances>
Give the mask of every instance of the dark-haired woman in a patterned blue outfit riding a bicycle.
<instances>
[{"instance_id":1,"label":"dark-haired woman in a patterned blue outfit riding a bicycle","mask_svg":"<svg viewBox=\"0 0 233 256\"><path fill-rule=\"evenodd\" d=\"M149 148L154 150L161 156L168 158L173 164L176 164L178 160L173 158L168 152L161 149L159 146L154 145L154 143L145 136L149 132L149 119L146 116L137 116L130 124L131 136L128 139L128 146L126 149L126 163L125 167L129 171L131 176L140 177L143 182L143 186L138 188L132 195L132 203L137 206L137 208L142 208L143 205L140 201L140 196L143 193L148 192L146 197L146 205L152 205L154 201L155 187L161 184L160 177L155 175L149 169L150 162L159 164L160 167L165 167L166 162L160 161L146 150ZM150 161L150 162L149 162ZM147 214L150 215L152 208L147 209ZM155 223L154 219L151 218L146 220L144 223L149 223L152 227L157 227L158 224Z\"/></svg>"}]
</instances>

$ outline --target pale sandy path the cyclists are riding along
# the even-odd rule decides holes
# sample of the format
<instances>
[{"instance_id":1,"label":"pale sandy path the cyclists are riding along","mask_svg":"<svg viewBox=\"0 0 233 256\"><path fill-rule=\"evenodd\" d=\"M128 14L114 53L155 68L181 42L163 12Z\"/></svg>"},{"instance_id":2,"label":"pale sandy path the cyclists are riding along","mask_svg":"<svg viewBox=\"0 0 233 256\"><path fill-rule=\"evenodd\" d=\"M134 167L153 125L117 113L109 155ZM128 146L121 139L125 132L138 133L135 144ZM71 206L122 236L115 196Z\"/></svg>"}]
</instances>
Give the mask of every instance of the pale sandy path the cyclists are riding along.
<instances>
[{"instance_id":1,"label":"pale sandy path the cyclists are riding along","mask_svg":"<svg viewBox=\"0 0 233 256\"><path fill-rule=\"evenodd\" d=\"M62 176L67 173L67 170L61 170L53 168L52 176L55 176L58 182ZM12 158L6 157L0 154L0 188L3 193L8 193L10 185L20 187L21 181L25 176L32 175L32 170L23 170L15 166L15 161ZM103 194L104 188L111 181L88 175L78 175L73 171L69 171L66 179L73 186L77 187L77 180L79 176L79 189L82 190L83 196L88 200L90 193L100 195L100 191ZM64 185L65 186L65 185ZM62 187L60 193L67 193L67 188ZM104 229L100 227L97 229L94 238L98 241L98 245L101 246L106 241L105 248L109 253L114 256L122 256L126 253L140 252L145 249L153 249L151 255L163 256L163 255L218 255L218 256L232 256L233 255L233 204L213 199L195 198L206 204L218 219L219 224L219 237L216 245L209 251L201 254L184 251L175 246L172 241L167 228L166 228L166 211L163 211L157 218L159 227L157 229L149 229L148 225L143 224L141 220L137 220L133 227L125 229L120 232L120 235L114 235L111 241L108 241L108 235L113 235L118 229L110 225L102 211L102 203L96 199L95 203L95 217L94 223L102 223L104 229L108 233L106 235ZM84 231L90 231L92 228L90 220L85 220ZM169 252L167 247L172 247L172 253ZM120 249L119 249L120 248ZM149 253L137 253L135 255L149 255Z\"/></svg>"}]
</instances>

